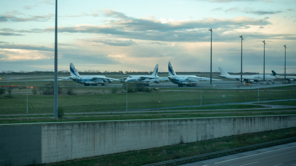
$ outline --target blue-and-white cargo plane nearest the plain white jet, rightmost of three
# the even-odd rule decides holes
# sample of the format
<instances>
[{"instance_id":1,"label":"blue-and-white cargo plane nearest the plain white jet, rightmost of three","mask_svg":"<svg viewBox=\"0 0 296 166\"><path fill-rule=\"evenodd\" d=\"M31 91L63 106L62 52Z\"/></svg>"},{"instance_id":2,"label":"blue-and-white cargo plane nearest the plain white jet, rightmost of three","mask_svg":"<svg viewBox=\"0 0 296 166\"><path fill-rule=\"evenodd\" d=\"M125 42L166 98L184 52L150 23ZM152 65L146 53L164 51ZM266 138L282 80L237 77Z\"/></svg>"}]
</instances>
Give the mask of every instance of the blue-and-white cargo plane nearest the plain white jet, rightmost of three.
<instances>
[{"instance_id":1,"label":"blue-and-white cargo plane nearest the plain white jet, rightmost of three","mask_svg":"<svg viewBox=\"0 0 296 166\"><path fill-rule=\"evenodd\" d=\"M197 77L195 75L176 75L173 65L168 62L168 78L174 84L178 84L178 86L192 86L196 85L200 80L209 81L210 78L205 77ZM219 81L218 79L213 79L214 81Z\"/></svg>"}]
</instances>

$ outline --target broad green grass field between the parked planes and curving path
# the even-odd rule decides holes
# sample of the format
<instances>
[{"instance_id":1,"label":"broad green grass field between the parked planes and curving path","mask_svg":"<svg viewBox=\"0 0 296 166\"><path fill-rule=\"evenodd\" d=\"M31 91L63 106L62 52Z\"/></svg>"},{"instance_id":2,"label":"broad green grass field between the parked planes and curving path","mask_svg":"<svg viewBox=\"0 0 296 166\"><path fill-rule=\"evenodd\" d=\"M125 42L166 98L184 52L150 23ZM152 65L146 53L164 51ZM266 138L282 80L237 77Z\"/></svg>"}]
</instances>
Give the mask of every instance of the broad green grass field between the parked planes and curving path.
<instances>
[{"instance_id":1,"label":"broad green grass field between the parked planes and curving path","mask_svg":"<svg viewBox=\"0 0 296 166\"><path fill-rule=\"evenodd\" d=\"M87 88L99 89L99 88ZM103 89L103 88L100 88ZM13 89L13 92L21 89ZM271 93L271 94L270 94ZM260 101L295 98L295 92L260 91ZM222 96L225 97L222 97ZM26 114L26 94L13 93L0 96L0 114ZM128 93L128 109L157 108L165 106L186 106L257 101L258 91L203 91L200 92L158 91L152 93ZM53 112L53 96L32 93L28 94L28 113L42 114ZM59 95L58 105L69 112L97 112L110 110L126 110L126 93L78 93L77 95Z\"/></svg>"}]
</instances>

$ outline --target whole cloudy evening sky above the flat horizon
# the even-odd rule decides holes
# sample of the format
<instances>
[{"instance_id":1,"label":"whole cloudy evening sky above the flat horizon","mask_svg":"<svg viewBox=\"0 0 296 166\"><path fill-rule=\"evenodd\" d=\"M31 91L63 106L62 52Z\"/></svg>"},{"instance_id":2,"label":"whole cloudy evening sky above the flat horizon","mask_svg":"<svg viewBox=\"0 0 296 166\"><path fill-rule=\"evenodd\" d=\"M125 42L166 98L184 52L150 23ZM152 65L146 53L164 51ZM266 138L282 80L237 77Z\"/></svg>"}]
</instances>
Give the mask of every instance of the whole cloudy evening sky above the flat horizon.
<instances>
[{"instance_id":1,"label":"whole cloudy evening sky above the flat horizon","mask_svg":"<svg viewBox=\"0 0 296 166\"><path fill-rule=\"evenodd\" d=\"M54 71L55 0L1 2L0 72ZM210 72L212 29L213 72L296 73L295 0L57 4L58 70Z\"/></svg>"}]
</instances>

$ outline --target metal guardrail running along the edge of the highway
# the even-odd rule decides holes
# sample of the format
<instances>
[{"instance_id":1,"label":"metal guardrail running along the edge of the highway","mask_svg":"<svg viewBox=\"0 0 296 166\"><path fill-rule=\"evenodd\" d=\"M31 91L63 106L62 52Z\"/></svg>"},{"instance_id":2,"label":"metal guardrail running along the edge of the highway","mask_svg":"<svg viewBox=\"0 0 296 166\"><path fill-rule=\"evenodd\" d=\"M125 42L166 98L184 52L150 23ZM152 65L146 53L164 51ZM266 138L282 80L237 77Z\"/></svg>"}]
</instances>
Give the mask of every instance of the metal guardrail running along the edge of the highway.
<instances>
[{"instance_id":1,"label":"metal guardrail running along the edge of the highway","mask_svg":"<svg viewBox=\"0 0 296 166\"><path fill-rule=\"evenodd\" d=\"M287 143L287 141L292 142L292 140L296 141L296 137L280 139L280 140L270 141L270 142L264 142L264 143L260 143L260 144L248 145L248 146L238 147L238 148L233 148L233 149L221 150L221 151L218 151L218 152L206 153L206 154L197 155L197 156L184 157L184 158L175 159L175 160L157 162L157 163L154 163L154 164L148 164L148 165L142 165L142 166L157 166L157 165L166 166L166 164L176 165L176 163L177 163L177 165L179 165L179 164L181 164L181 162L182 162L182 164L190 163L190 162L197 162L197 161L201 161L201 160L211 159L212 157L216 158L216 157L220 157L220 156L226 156L227 153L235 154L235 153L255 150L256 147L262 148L262 146L264 146L264 145L267 145L267 147L269 147L268 146L269 144L273 144L272 146L274 146L276 143L280 143L280 142L285 142L285 143ZM260 148L258 148L258 149L260 149ZM239 151L239 152L236 152L236 151ZM231 152L233 152L233 153L231 153ZM224 153L225 153L225 155L223 155ZM195 161L194 161L194 159L195 159Z\"/></svg>"}]
</instances>

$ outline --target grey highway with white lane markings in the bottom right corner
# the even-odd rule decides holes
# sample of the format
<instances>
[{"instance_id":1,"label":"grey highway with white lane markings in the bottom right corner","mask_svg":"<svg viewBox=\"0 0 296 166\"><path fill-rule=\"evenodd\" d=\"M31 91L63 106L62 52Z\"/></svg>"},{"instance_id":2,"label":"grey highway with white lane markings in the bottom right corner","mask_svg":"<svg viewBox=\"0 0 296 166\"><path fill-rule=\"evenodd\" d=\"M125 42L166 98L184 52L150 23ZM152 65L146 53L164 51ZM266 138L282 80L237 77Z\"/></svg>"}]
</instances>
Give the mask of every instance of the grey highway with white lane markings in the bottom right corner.
<instances>
[{"instance_id":1,"label":"grey highway with white lane markings in the bottom right corner","mask_svg":"<svg viewBox=\"0 0 296 166\"><path fill-rule=\"evenodd\" d=\"M296 142L238 153L182 166L295 166Z\"/></svg>"}]
</instances>

